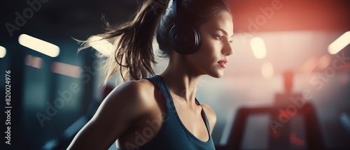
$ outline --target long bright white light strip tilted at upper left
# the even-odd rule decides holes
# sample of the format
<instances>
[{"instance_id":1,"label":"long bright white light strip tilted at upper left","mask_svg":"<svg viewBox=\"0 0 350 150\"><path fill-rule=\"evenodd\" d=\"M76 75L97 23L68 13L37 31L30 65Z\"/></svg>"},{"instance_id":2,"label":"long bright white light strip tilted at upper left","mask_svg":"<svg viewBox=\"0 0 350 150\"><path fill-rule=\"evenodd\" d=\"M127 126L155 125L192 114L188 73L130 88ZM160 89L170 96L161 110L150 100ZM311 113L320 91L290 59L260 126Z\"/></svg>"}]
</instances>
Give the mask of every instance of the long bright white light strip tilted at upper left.
<instances>
[{"instance_id":1,"label":"long bright white light strip tilted at upper left","mask_svg":"<svg viewBox=\"0 0 350 150\"><path fill-rule=\"evenodd\" d=\"M49 57L57 57L59 55L59 47L48 43L44 40L28 36L27 34L21 34L18 38L20 45L41 52L42 54L48 55Z\"/></svg>"}]
</instances>

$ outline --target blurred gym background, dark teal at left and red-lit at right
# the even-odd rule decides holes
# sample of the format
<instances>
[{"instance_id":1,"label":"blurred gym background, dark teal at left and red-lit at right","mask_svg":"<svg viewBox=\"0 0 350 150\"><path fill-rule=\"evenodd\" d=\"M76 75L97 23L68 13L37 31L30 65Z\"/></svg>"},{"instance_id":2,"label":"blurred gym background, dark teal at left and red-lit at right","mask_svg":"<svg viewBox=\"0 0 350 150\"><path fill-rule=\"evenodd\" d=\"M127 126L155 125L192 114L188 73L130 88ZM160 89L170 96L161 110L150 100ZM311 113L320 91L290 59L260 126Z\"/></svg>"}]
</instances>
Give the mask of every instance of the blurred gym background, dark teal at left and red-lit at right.
<instances>
[{"instance_id":1,"label":"blurred gym background, dark teal at left and red-lit at right","mask_svg":"<svg viewBox=\"0 0 350 150\"><path fill-rule=\"evenodd\" d=\"M10 94L1 110L10 110L11 123L8 145L9 116L2 112L1 149L66 149L118 85L113 77L102 91L103 58L94 57L110 45L77 53L73 38L102 33L103 15L112 24L125 22L142 1L1 3L0 94ZM349 149L350 1L228 3L235 54L222 79L203 77L197 89L197 99L218 117L216 148ZM168 60L157 60L159 74Z\"/></svg>"}]
</instances>

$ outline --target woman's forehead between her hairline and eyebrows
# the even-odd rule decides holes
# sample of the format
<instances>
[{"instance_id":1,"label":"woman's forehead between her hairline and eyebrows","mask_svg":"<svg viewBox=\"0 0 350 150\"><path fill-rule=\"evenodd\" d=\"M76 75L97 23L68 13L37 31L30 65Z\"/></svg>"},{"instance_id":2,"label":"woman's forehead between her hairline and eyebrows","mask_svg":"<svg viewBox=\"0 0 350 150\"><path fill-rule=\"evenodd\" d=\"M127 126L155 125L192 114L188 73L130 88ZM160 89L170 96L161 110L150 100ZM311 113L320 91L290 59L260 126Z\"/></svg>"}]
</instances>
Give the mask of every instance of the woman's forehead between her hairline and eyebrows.
<instances>
[{"instance_id":1,"label":"woman's forehead between her hairline and eyebrows","mask_svg":"<svg viewBox=\"0 0 350 150\"><path fill-rule=\"evenodd\" d=\"M200 25L200 29L223 29L226 32L228 32L228 34L232 34L232 17L230 13L228 13L227 11L223 11L222 13L219 13L218 15L212 17L208 22L205 22L204 24Z\"/></svg>"}]
</instances>

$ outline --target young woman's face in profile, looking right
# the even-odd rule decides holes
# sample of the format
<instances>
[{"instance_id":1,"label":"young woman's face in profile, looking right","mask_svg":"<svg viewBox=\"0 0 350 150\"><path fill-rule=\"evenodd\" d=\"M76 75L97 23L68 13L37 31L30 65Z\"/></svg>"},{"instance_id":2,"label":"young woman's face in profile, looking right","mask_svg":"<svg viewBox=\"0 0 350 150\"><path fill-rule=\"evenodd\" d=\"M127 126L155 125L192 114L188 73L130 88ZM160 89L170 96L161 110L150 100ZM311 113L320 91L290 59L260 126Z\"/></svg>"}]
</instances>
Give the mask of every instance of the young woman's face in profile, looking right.
<instances>
[{"instance_id":1,"label":"young woman's face in profile, looking right","mask_svg":"<svg viewBox=\"0 0 350 150\"><path fill-rule=\"evenodd\" d=\"M200 32L200 48L188 55L191 70L201 75L222 77L228 65L228 57L233 53L233 22L231 15L224 11L211 18L198 28Z\"/></svg>"}]
</instances>

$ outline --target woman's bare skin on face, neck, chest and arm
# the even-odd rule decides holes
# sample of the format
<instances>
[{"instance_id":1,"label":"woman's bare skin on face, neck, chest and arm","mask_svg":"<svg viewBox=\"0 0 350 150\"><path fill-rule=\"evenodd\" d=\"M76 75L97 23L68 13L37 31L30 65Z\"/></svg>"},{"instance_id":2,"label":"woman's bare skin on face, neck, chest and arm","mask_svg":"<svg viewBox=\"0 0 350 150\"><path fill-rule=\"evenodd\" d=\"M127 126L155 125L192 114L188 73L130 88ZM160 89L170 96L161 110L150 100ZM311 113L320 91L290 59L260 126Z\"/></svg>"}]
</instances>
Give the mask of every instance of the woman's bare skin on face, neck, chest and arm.
<instances>
[{"instance_id":1,"label":"woman's bare skin on face, neck, chest and arm","mask_svg":"<svg viewBox=\"0 0 350 150\"><path fill-rule=\"evenodd\" d=\"M209 120L212 133L216 114L208 105L195 103L197 83L202 75L222 77L224 68L218 61L233 53L232 17L222 12L208 22L200 25L201 45L195 54L170 54L169 65L160 74L169 87L176 112L181 122L199 140L209 140L207 128L202 117L202 108ZM157 135L165 121L165 100L158 89L148 80L130 81L113 89L94 117L79 131L68 149L108 149L118 139L123 149L139 147ZM153 122L153 126L149 122ZM135 141L136 133L145 128L154 130L146 142Z\"/></svg>"}]
</instances>

